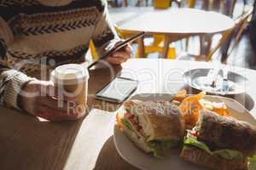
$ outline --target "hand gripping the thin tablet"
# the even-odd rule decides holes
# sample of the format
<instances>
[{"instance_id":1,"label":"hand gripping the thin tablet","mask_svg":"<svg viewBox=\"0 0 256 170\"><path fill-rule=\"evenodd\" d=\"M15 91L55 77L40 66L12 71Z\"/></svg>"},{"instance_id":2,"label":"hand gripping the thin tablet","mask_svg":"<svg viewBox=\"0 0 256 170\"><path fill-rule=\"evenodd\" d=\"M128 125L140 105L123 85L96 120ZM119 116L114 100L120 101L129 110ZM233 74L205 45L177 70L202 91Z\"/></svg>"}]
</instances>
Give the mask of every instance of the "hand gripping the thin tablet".
<instances>
[{"instance_id":1,"label":"hand gripping the thin tablet","mask_svg":"<svg viewBox=\"0 0 256 170\"><path fill-rule=\"evenodd\" d=\"M125 46L124 48L119 49L119 51L114 52L109 55L106 59L108 63L113 65L120 65L124 63L127 59L130 59L132 55L132 49L130 45Z\"/></svg>"}]
</instances>

